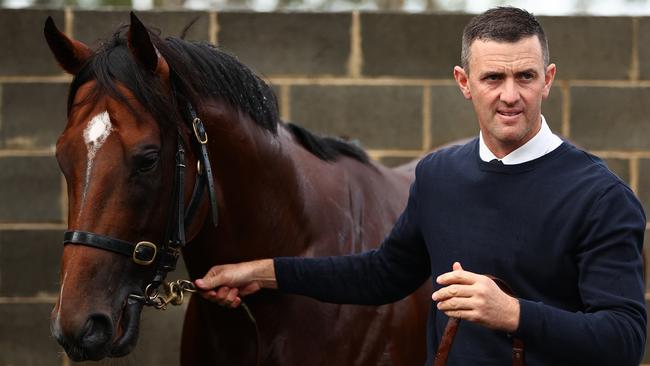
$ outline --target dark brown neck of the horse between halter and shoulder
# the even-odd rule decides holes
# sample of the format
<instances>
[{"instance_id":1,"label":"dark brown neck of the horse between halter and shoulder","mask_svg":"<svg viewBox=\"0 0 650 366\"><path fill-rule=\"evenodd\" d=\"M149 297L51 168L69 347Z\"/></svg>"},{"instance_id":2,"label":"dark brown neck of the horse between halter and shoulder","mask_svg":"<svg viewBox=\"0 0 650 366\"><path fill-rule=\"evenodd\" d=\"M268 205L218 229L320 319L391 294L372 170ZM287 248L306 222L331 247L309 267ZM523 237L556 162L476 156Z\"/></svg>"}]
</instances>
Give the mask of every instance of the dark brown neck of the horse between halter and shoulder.
<instances>
[{"instance_id":1,"label":"dark brown neck of the horse between halter and shoulder","mask_svg":"<svg viewBox=\"0 0 650 366\"><path fill-rule=\"evenodd\" d=\"M204 118L220 210L219 227L205 224L199 241L226 242L206 246L224 261L295 254L305 242L304 202L285 131L274 135L217 107Z\"/></svg>"}]
</instances>

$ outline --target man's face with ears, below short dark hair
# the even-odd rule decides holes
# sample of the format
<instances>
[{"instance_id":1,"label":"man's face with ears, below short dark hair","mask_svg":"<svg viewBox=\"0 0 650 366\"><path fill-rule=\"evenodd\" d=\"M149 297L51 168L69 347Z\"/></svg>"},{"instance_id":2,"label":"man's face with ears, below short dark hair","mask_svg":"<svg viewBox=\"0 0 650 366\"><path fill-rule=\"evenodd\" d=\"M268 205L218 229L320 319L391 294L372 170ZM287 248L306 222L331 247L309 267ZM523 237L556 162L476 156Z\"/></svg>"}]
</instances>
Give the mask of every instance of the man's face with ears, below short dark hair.
<instances>
[{"instance_id":1,"label":"man's face with ears, below short dark hair","mask_svg":"<svg viewBox=\"0 0 650 366\"><path fill-rule=\"evenodd\" d=\"M544 67L539 39L531 36L515 43L474 41L469 69L456 66L454 78L474 105L485 143L503 157L539 131L555 65Z\"/></svg>"}]
</instances>

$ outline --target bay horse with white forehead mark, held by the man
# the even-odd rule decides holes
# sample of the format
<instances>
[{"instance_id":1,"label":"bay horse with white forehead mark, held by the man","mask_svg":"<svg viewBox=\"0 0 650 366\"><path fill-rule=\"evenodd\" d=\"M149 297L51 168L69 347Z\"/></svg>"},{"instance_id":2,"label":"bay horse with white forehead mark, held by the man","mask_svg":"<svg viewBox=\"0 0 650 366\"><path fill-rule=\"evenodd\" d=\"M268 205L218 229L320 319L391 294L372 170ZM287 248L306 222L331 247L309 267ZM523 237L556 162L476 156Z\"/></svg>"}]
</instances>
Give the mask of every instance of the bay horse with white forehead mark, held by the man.
<instances>
[{"instance_id":1,"label":"bay horse with white forehead mark, held by the man","mask_svg":"<svg viewBox=\"0 0 650 366\"><path fill-rule=\"evenodd\" d=\"M282 122L271 88L212 45L162 39L133 13L97 50L51 18L44 33L74 75L56 146L69 214L51 317L74 361L132 351L181 251L191 279L215 264L356 253L406 204L412 176ZM375 307L262 291L247 311L192 296L181 364L422 365L430 293Z\"/></svg>"}]
</instances>

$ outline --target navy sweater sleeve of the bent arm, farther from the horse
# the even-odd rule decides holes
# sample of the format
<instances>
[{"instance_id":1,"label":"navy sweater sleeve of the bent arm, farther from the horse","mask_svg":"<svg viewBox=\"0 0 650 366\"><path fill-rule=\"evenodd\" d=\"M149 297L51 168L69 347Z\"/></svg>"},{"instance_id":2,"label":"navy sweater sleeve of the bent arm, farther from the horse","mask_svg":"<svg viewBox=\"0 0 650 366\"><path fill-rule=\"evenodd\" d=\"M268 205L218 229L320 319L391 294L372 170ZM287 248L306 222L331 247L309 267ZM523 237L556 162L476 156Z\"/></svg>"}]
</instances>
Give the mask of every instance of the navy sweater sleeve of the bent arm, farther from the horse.
<instances>
[{"instance_id":1,"label":"navy sweater sleeve of the bent arm, farther from the horse","mask_svg":"<svg viewBox=\"0 0 650 366\"><path fill-rule=\"evenodd\" d=\"M646 219L623 184L607 190L586 218L576 249L583 312L520 299L524 342L585 365L638 365L646 339L643 260Z\"/></svg>"}]
</instances>

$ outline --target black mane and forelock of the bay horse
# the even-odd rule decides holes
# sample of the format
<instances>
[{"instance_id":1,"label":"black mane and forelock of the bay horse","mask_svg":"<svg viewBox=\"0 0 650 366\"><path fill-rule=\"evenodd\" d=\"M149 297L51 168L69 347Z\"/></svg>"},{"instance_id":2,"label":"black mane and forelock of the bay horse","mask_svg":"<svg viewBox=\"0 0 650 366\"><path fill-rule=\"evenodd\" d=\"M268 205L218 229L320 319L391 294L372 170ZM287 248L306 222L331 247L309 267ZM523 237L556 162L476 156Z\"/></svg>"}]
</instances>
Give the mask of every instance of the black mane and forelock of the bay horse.
<instances>
[{"instance_id":1,"label":"black mane and forelock of the bay horse","mask_svg":"<svg viewBox=\"0 0 650 366\"><path fill-rule=\"evenodd\" d=\"M366 153L353 144L316 136L302 127L282 123L271 87L235 57L206 42L188 42L175 37L163 40L150 31L152 42L169 65L173 86L170 100L162 92L160 80L145 72L132 57L126 29L126 26L119 28L74 77L68 95L68 114L75 106L79 87L91 80L96 81L95 88L82 103L108 93L130 107L117 88L119 82L133 92L140 104L147 106L163 127L175 126L179 111L187 114L187 103L196 106L199 100L211 96L247 113L255 124L273 135L277 134L278 126L286 128L305 149L322 160L334 161L344 155L368 163ZM181 115L180 118L190 117Z\"/></svg>"}]
</instances>

